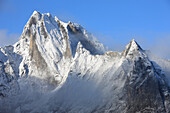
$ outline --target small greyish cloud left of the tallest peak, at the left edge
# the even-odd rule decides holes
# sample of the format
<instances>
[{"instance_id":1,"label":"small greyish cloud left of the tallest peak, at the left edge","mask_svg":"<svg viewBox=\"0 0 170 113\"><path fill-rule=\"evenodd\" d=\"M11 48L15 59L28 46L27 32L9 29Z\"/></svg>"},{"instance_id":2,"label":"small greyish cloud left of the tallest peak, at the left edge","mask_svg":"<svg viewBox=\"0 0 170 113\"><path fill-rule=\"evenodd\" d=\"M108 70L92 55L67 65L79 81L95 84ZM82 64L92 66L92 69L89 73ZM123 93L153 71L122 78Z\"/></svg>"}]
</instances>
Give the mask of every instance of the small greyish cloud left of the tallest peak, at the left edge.
<instances>
[{"instance_id":1,"label":"small greyish cloud left of the tallest peak, at the left edge","mask_svg":"<svg viewBox=\"0 0 170 113\"><path fill-rule=\"evenodd\" d=\"M14 44L19 36L19 34L9 34L7 30L0 30L0 47Z\"/></svg>"}]
</instances>

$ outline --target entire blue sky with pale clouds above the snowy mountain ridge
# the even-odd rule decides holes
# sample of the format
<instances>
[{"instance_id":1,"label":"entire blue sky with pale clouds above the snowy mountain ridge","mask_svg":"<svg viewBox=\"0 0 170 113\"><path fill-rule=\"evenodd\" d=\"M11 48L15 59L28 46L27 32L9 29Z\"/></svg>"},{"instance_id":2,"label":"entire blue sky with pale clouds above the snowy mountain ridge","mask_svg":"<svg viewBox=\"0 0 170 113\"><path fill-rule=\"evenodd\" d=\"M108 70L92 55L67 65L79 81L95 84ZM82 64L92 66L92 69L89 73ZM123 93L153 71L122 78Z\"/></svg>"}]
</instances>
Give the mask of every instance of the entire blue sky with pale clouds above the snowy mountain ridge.
<instances>
[{"instance_id":1,"label":"entire blue sky with pale clouds above the snowy mountain ridge","mask_svg":"<svg viewBox=\"0 0 170 113\"><path fill-rule=\"evenodd\" d=\"M0 46L14 43L34 10L81 24L112 50L132 38L170 58L169 0L0 0Z\"/></svg>"}]
</instances>

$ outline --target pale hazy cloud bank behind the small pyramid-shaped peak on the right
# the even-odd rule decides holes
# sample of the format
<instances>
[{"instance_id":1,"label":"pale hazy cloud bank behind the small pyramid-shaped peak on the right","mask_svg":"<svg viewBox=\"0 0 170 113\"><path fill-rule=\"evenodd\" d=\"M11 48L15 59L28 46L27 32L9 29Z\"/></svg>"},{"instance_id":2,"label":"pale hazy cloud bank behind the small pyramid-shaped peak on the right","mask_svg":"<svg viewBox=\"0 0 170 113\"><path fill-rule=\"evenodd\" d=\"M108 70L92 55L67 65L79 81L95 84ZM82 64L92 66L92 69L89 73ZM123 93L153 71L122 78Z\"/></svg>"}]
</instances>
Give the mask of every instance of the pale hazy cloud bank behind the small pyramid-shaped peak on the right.
<instances>
[{"instance_id":1,"label":"pale hazy cloud bank behind the small pyramid-shaped peak on the right","mask_svg":"<svg viewBox=\"0 0 170 113\"><path fill-rule=\"evenodd\" d=\"M169 33L154 33L152 35L147 34L144 36L141 36L139 34L137 35L124 34L122 36L121 35L117 36L117 38L103 35L101 33L95 33L95 36L101 43L107 46L109 50L119 52L123 51L125 49L125 46L130 42L130 40L134 38L144 50L150 50L154 55L158 57L170 59Z\"/></svg>"}]
</instances>

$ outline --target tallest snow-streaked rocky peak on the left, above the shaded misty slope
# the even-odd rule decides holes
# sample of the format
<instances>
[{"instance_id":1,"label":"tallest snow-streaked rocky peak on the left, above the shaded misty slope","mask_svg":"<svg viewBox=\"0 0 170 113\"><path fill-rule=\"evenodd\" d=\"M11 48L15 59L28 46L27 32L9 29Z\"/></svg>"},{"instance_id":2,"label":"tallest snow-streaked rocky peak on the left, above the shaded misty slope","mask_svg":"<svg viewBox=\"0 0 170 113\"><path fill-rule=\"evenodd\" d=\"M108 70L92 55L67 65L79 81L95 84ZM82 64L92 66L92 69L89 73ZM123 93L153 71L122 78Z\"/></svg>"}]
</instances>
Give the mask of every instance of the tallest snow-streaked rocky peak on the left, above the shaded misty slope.
<instances>
[{"instance_id":1,"label":"tallest snow-streaked rocky peak on the left, above the shaded misty slope","mask_svg":"<svg viewBox=\"0 0 170 113\"><path fill-rule=\"evenodd\" d=\"M78 42L91 54L104 53L103 45L80 25L64 23L49 13L35 11L14 45L14 52L23 56L20 76L34 75L48 78L51 82L65 81ZM23 72L26 70L24 66L28 67L28 73Z\"/></svg>"}]
</instances>

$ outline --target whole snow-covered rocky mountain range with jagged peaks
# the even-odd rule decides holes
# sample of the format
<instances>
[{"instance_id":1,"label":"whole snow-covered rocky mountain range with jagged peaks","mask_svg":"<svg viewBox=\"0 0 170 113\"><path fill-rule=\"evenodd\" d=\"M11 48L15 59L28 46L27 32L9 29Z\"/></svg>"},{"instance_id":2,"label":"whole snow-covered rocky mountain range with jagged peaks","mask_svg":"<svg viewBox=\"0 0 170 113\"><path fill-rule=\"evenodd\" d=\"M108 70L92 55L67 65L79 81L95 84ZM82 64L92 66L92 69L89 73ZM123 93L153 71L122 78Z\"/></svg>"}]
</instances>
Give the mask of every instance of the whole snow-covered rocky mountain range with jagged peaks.
<instances>
[{"instance_id":1,"label":"whole snow-covered rocky mountain range with jagged peaks","mask_svg":"<svg viewBox=\"0 0 170 113\"><path fill-rule=\"evenodd\" d=\"M169 68L134 39L106 51L81 25L34 11L0 48L0 112L170 113Z\"/></svg>"}]
</instances>

